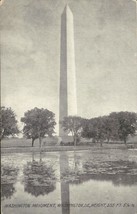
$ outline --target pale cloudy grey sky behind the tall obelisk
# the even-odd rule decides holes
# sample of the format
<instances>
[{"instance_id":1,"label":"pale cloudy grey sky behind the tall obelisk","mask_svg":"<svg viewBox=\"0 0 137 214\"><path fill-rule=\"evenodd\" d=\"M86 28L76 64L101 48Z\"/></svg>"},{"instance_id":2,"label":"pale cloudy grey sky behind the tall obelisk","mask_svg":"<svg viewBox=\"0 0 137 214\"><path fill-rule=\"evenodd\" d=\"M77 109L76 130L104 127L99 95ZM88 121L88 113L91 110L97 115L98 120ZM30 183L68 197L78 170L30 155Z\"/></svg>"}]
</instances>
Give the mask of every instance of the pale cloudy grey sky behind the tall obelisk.
<instances>
[{"instance_id":1,"label":"pale cloudy grey sky behind the tall obelisk","mask_svg":"<svg viewBox=\"0 0 137 214\"><path fill-rule=\"evenodd\" d=\"M2 105L19 121L34 107L53 111L58 121L60 27L67 3L74 18L78 115L137 112L133 0L5 0L0 7Z\"/></svg>"}]
</instances>

